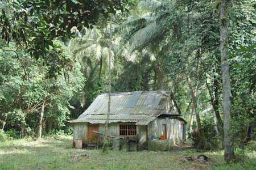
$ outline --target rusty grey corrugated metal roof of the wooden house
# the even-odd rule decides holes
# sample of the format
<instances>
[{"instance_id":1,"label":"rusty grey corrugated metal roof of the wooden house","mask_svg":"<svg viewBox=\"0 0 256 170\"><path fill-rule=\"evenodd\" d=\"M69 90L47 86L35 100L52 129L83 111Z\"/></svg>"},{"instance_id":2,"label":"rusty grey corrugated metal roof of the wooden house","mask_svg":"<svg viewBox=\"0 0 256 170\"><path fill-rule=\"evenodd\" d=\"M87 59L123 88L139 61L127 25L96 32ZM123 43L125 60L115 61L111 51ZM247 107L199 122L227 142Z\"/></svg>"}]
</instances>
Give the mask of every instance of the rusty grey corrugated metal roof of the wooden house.
<instances>
[{"instance_id":1,"label":"rusty grey corrugated metal roof of the wooden house","mask_svg":"<svg viewBox=\"0 0 256 170\"><path fill-rule=\"evenodd\" d=\"M164 91L112 93L109 123L135 122L138 125L147 125L164 110L166 99ZM69 122L104 124L107 113L108 94L101 94L77 120Z\"/></svg>"}]
</instances>

